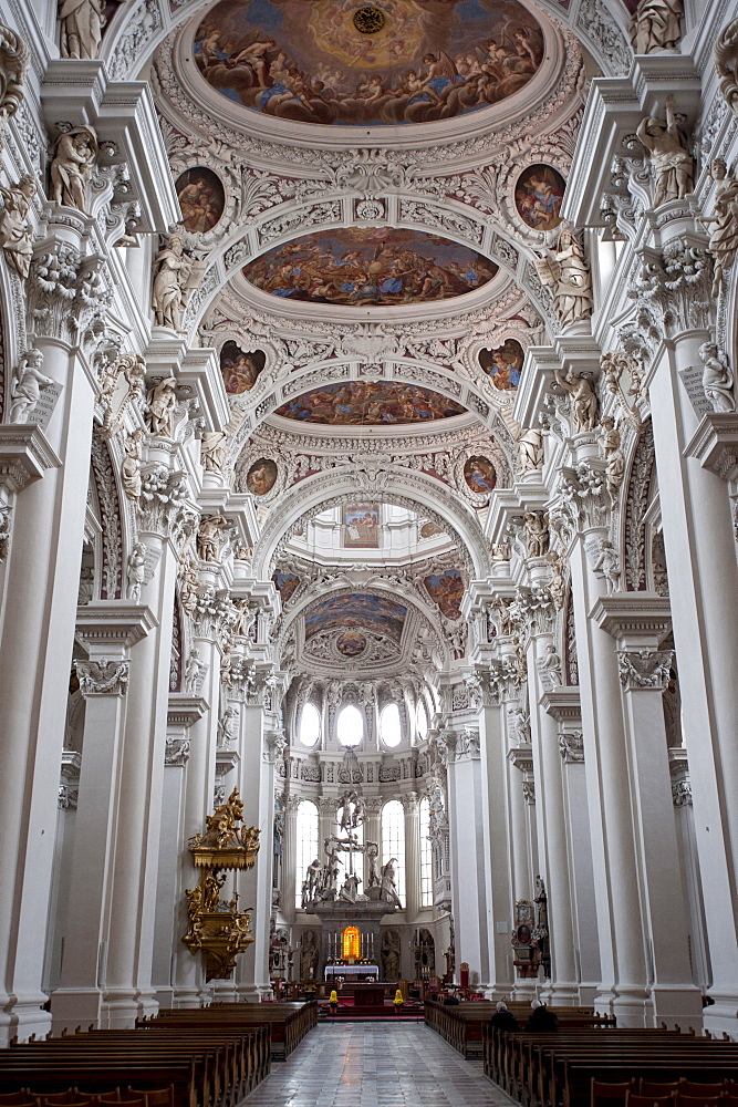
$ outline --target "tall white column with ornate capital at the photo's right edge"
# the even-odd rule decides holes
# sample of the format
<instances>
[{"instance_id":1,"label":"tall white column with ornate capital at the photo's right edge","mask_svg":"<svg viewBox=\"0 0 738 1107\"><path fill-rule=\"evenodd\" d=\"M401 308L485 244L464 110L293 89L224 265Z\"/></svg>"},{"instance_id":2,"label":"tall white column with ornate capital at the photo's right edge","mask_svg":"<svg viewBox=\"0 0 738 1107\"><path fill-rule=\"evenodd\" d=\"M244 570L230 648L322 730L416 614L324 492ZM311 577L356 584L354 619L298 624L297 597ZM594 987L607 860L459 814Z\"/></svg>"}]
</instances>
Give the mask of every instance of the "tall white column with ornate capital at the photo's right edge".
<instances>
[{"instance_id":1,"label":"tall white column with ornate capital at the photo's right edge","mask_svg":"<svg viewBox=\"0 0 738 1107\"><path fill-rule=\"evenodd\" d=\"M738 915L738 566L727 486L696 457L685 456L698 418L678 374L700 365L698 350L709 337L705 240L678 211L662 224L661 244L679 276L668 293L655 278L642 302L668 338L647 384L666 563L674 587L678 582L672 625L714 971L709 994L715 1003L705 1008L704 1025L735 1036L738 933L725 920ZM698 280L687 279L692 270L679 266L682 258L694 265L694 257L701 268ZM668 317L662 324L664 311Z\"/></svg>"}]
</instances>

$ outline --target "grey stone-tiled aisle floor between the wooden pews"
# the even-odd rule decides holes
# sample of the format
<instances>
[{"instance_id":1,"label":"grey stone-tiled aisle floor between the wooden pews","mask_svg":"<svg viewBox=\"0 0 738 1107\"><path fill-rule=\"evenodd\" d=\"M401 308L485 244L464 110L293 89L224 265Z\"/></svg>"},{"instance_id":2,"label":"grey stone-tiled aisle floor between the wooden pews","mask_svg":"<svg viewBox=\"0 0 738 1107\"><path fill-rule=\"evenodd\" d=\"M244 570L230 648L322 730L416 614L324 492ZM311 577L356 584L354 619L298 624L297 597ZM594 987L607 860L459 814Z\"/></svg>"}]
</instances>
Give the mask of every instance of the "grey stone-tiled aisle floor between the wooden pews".
<instances>
[{"instance_id":1,"label":"grey stone-tiled aisle floor between the wooden pews","mask_svg":"<svg viewBox=\"0 0 738 1107\"><path fill-rule=\"evenodd\" d=\"M248 1107L509 1107L512 1100L423 1023L316 1026Z\"/></svg>"}]
</instances>

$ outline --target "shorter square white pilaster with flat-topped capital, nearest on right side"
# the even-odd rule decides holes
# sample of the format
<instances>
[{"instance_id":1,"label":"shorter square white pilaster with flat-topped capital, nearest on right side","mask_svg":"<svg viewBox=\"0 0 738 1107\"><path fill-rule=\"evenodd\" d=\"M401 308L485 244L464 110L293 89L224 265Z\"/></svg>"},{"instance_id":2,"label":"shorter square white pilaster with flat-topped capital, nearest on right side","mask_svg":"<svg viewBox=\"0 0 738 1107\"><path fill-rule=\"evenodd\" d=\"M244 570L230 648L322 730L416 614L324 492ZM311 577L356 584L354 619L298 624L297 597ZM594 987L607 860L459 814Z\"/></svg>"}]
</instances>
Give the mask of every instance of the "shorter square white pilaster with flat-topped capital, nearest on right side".
<instances>
[{"instance_id":1,"label":"shorter square white pilaster with flat-topped capital, nearest on right side","mask_svg":"<svg viewBox=\"0 0 738 1107\"><path fill-rule=\"evenodd\" d=\"M671 625L669 602L646 592L620 592L602 598L592 614L619 648L654 1018L658 1025L698 1030L701 997L692 982L686 893L664 865L665 857L679 852L664 715L672 651L658 649Z\"/></svg>"}]
</instances>

